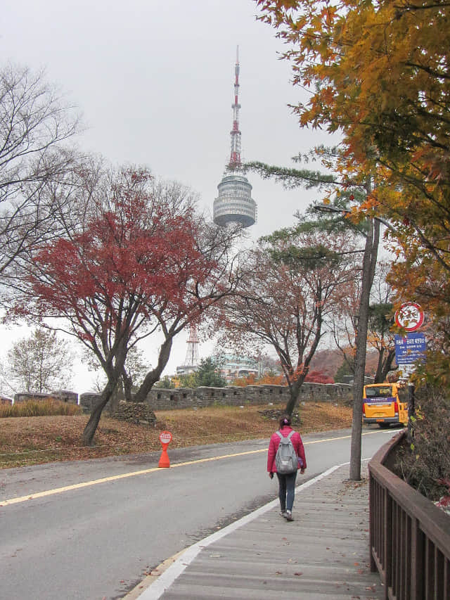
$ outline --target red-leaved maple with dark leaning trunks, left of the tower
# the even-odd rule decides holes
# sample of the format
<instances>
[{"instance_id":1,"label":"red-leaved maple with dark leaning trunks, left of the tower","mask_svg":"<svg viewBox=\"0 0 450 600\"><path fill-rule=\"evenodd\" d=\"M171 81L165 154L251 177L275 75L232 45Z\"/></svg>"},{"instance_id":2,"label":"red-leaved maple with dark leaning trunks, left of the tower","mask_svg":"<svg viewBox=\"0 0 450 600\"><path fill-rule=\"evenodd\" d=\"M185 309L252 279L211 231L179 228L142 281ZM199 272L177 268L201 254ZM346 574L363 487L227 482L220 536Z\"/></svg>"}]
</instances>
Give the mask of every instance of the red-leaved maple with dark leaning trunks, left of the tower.
<instances>
[{"instance_id":1,"label":"red-leaved maple with dark leaning trunks, left of the tower","mask_svg":"<svg viewBox=\"0 0 450 600\"><path fill-rule=\"evenodd\" d=\"M228 237L214 234L214 246L189 198L176 190L155 185L146 170L110 176L79 231L35 255L27 294L17 305L33 317L63 318L69 324L65 331L94 352L105 371L108 382L82 436L86 445L129 348L163 331L158 366L146 378L151 387L167 364L172 338L226 292L221 286L226 267L217 256Z\"/></svg>"}]
</instances>

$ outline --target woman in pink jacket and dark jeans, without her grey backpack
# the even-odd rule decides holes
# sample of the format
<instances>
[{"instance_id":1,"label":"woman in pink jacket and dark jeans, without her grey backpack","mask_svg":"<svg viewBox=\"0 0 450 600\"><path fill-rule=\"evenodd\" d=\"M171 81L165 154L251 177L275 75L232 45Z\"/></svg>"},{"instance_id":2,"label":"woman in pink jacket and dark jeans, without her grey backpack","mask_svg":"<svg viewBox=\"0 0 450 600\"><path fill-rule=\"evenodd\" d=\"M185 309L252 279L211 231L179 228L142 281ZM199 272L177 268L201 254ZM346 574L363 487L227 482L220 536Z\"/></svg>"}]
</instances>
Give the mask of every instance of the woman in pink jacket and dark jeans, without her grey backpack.
<instances>
[{"instance_id":1,"label":"woman in pink jacket and dark jeans, without her grey backpack","mask_svg":"<svg viewBox=\"0 0 450 600\"><path fill-rule=\"evenodd\" d=\"M269 453L267 455L267 472L269 477L272 479L274 473L278 478L278 495L280 498L280 514L287 520L293 521L293 504L295 496L295 479L297 478L297 470L300 468L300 473L304 473L307 468L307 459L304 456L304 447L300 433L294 431L290 426L290 416L283 414L279 419L280 429L276 431L270 438L269 442ZM289 434L290 441L293 443L295 453L297 454L297 469L293 473L277 473L276 470L276 451L280 445L281 437L288 438Z\"/></svg>"}]
</instances>

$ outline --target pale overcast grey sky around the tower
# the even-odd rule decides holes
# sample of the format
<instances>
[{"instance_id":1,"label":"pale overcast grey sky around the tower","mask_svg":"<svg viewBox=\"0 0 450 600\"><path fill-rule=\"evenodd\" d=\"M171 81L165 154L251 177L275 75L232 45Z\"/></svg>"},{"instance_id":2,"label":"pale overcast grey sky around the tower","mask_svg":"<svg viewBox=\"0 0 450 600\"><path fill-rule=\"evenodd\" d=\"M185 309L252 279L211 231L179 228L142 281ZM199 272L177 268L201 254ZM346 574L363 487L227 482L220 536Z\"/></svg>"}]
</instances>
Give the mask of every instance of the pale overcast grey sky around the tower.
<instances>
[{"instance_id":1,"label":"pale overcast grey sky around the tower","mask_svg":"<svg viewBox=\"0 0 450 600\"><path fill-rule=\"evenodd\" d=\"M256 14L252 0L4 0L1 60L46 70L84 117L82 150L181 181L212 213L229 160L237 45L243 160L290 165L327 140L298 127L288 103L305 98L278 59L283 44ZM293 213L316 197L248 178L255 239L293 224ZM185 354L181 338L167 372Z\"/></svg>"}]
</instances>

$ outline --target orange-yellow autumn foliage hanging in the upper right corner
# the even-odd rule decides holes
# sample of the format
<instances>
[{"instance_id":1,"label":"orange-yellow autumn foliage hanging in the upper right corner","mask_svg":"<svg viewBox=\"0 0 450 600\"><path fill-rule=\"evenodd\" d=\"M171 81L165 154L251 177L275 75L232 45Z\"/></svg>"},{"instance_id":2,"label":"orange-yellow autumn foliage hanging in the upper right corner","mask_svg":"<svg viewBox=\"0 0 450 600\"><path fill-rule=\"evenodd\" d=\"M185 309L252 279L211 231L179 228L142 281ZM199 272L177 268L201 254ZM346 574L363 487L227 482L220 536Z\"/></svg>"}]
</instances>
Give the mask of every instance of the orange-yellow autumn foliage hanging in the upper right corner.
<instances>
[{"instance_id":1,"label":"orange-yellow autumn foliage hanging in the upper right corner","mask_svg":"<svg viewBox=\"0 0 450 600\"><path fill-rule=\"evenodd\" d=\"M420 302L437 328L450 314L448 3L255 0L286 44L302 127L342 136L340 181L371 179L356 211L383 217L397 302ZM448 338L445 333L444 337Z\"/></svg>"}]
</instances>

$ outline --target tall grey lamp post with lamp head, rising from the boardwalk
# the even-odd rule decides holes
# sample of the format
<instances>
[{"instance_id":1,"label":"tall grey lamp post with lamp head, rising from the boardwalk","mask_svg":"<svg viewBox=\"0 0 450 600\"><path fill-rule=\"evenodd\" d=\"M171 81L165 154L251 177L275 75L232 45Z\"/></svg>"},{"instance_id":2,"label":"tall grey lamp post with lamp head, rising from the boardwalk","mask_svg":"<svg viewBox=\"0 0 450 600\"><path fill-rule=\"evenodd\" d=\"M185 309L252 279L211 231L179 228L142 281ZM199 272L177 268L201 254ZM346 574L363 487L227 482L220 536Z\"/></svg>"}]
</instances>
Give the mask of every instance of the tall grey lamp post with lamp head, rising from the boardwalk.
<instances>
[{"instance_id":1,"label":"tall grey lamp post with lamp head, rising from the boardwalk","mask_svg":"<svg viewBox=\"0 0 450 600\"><path fill-rule=\"evenodd\" d=\"M341 215L349 214L349 210L334 206L319 204L314 206L319 212L335 212ZM366 349L368 312L371 298L371 288L378 257L378 244L380 242L380 222L382 219L373 217L369 219L366 245L364 246L363 267L361 276L361 294L359 296L359 319L356 329L356 353L354 357L353 378L353 416L352 416L352 442L350 445L350 471L349 480L361 480L361 435L363 420L363 392L364 374L366 371Z\"/></svg>"}]
</instances>

